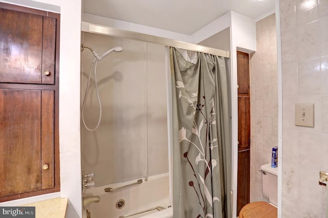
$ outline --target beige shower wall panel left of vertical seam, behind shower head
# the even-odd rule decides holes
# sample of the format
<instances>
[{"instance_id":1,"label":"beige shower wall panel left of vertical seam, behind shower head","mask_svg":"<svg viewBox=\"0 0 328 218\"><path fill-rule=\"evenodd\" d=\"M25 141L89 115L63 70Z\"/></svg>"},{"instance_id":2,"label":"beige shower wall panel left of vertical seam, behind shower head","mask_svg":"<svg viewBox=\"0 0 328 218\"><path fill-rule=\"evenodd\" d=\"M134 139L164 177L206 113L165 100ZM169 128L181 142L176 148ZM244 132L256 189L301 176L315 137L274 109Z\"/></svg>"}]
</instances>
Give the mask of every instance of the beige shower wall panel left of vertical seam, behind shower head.
<instances>
[{"instance_id":1,"label":"beige shower wall panel left of vertical seam, behind shower head","mask_svg":"<svg viewBox=\"0 0 328 218\"><path fill-rule=\"evenodd\" d=\"M145 42L92 33L84 33L83 42L99 55L117 46L124 49L98 62L97 84L103 112L94 132L81 126L83 170L94 172L95 186L142 178L147 137ZM83 95L93 58L90 51L83 52ZM99 109L94 80L90 82L84 113L86 123L94 127Z\"/></svg>"}]
</instances>

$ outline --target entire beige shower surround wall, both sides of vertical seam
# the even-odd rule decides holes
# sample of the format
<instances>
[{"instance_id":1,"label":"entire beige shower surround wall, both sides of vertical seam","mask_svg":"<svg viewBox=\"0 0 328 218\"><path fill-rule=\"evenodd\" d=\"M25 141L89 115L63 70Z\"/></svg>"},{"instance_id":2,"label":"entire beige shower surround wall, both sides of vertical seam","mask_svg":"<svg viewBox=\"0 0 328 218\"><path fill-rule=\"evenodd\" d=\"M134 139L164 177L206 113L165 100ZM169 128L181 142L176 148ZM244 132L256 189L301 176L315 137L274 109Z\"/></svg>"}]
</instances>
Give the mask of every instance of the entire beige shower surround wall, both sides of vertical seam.
<instances>
[{"instance_id":1,"label":"entire beige shower surround wall, both sides of vertical seam","mask_svg":"<svg viewBox=\"0 0 328 218\"><path fill-rule=\"evenodd\" d=\"M90 132L81 127L83 171L94 172L95 186L168 172L165 47L100 34L82 35L83 43L102 54L97 84L103 107L100 126ZM83 52L82 95L94 56ZM98 101L93 75L85 104L85 120L97 124Z\"/></svg>"}]
</instances>

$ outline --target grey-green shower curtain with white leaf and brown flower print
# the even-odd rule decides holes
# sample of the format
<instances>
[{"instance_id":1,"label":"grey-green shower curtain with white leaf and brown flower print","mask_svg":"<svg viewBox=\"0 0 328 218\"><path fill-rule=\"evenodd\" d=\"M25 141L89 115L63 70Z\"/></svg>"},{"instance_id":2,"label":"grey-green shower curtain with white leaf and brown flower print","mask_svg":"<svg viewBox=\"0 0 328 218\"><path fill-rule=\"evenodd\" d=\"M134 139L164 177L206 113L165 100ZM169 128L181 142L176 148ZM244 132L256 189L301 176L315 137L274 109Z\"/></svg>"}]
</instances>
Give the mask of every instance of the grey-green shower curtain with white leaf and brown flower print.
<instances>
[{"instance_id":1,"label":"grey-green shower curtain with white leaf and brown flower print","mask_svg":"<svg viewBox=\"0 0 328 218\"><path fill-rule=\"evenodd\" d=\"M170 48L173 116L173 216L231 217L231 143L226 62Z\"/></svg>"}]
</instances>

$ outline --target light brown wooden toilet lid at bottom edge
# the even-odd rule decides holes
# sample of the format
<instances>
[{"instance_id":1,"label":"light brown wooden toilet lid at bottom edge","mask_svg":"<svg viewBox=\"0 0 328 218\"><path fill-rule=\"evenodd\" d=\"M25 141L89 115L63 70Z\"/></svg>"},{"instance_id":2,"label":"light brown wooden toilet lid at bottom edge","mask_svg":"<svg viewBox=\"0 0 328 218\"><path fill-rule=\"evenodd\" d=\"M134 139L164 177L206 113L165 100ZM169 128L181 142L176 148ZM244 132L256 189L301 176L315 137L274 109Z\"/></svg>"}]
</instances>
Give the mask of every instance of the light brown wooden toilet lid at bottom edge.
<instances>
[{"instance_id":1,"label":"light brown wooden toilet lid at bottom edge","mask_svg":"<svg viewBox=\"0 0 328 218\"><path fill-rule=\"evenodd\" d=\"M277 218L277 208L264 201L253 202L241 208L239 218Z\"/></svg>"}]
</instances>

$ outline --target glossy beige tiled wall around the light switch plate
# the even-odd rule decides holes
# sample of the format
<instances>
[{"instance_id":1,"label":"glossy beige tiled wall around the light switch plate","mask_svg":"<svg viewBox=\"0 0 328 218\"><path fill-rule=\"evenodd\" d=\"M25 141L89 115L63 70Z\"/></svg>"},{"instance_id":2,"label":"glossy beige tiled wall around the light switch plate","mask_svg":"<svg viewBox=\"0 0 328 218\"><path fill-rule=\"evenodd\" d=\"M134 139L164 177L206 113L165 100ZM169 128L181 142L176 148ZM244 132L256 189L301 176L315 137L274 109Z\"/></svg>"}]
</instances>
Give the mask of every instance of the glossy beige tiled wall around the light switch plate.
<instances>
[{"instance_id":1,"label":"glossy beige tiled wall around the light switch plate","mask_svg":"<svg viewBox=\"0 0 328 218\"><path fill-rule=\"evenodd\" d=\"M282 217L326 217L328 0L281 0ZM314 127L295 126L295 103L315 104ZM328 187L328 186L327 186Z\"/></svg>"}]
</instances>

